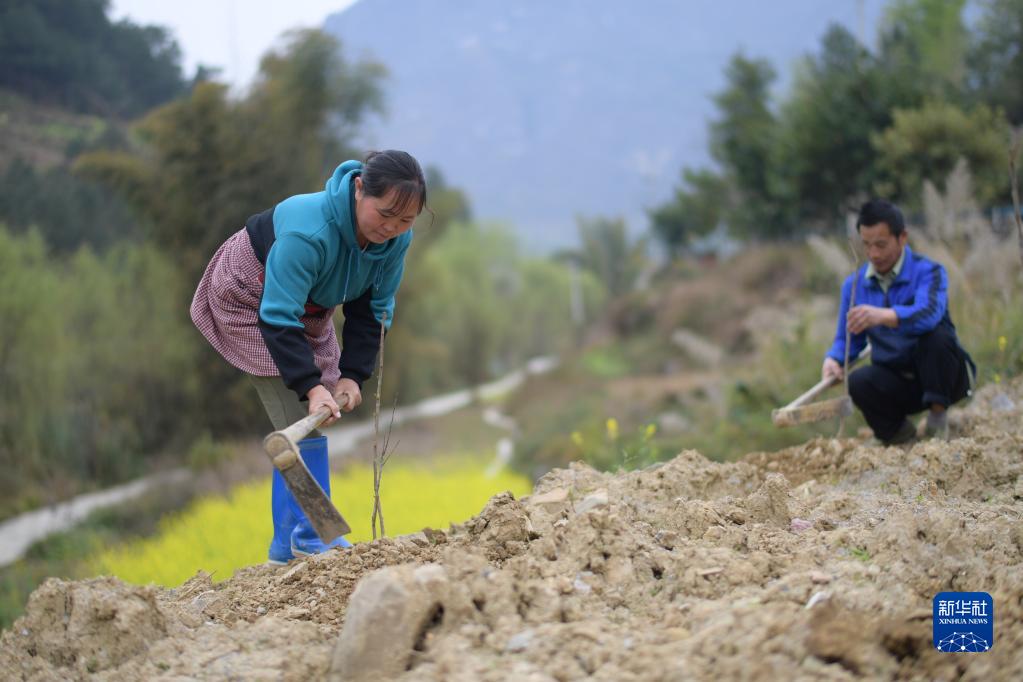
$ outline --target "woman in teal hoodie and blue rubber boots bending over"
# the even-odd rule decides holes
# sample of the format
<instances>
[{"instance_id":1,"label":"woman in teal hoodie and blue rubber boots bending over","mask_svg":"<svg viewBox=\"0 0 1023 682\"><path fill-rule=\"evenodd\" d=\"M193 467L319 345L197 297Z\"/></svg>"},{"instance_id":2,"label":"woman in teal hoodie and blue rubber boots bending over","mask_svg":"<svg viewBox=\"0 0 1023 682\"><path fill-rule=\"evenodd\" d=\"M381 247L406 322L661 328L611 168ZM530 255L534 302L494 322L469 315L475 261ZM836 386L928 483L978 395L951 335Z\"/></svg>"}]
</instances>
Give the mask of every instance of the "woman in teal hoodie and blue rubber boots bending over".
<instances>
[{"instance_id":1,"label":"woman in teal hoodie and blue rubber boots bending over","mask_svg":"<svg viewBox=\"0 0 1023 682\"><path fill-rule=\"evenodd\" d=\"M192 321L250 375L274 428L321 407L330 410L323 423L329 425L362 402L426 200L415 158L394 149L372 152L339 166L323 191L252 216L210 261L192 299ZM345 317L341 345L337 306ZM326 438L314 431L299 446L329 495ZM319 540L277 471L270 506L273 563L351 546L345 538Z\"/></svg>"}]
</instances>

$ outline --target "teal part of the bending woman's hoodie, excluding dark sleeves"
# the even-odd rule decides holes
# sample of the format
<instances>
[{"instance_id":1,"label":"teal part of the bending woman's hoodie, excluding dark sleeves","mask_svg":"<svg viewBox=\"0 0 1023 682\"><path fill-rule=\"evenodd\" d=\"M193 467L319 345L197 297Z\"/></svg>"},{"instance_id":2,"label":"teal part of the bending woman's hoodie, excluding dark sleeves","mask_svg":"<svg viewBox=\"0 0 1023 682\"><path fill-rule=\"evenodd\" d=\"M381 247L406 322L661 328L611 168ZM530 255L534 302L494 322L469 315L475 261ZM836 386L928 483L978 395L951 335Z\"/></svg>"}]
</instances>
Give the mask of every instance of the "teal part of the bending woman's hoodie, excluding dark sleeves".
<instances>
[{"instance_id":1,"label":"teal part of the bending woman's hoodie, excluding dark sleeves","mask_svg":"<svg viewBox=\"0 0 1023 682\"><path fill-rule=\"evenodd\" d=\"M284 199L273 211L275 241L266 257L260 319L278 327L302 327L306 303L323 308L353 301L370 286L377 323L394 319L394 297L412 242L409 230L382 244L359 247L355 237L353 180L362 164L335 170L324 190Z\"/></svg>"}]
</instances>

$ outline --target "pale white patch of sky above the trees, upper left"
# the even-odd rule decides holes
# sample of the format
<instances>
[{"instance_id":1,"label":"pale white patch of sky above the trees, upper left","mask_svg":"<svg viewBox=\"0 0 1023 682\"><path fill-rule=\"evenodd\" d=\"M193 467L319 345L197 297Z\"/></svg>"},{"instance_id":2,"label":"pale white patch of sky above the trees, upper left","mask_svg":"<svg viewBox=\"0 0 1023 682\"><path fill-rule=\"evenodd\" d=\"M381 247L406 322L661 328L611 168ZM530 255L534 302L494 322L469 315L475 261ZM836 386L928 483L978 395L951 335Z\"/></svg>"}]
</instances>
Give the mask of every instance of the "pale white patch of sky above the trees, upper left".
<instances>
[{"instance_id":1,"label":"pale white patch of sky above the trees, upper left","mask_svg":"<svg viewBox=\"0 0 1023 682\"><path fill-rule=\"evenodd\" d=\"M174 32L185 76L195 66L221 69L234 87L248 85L263 54L288 29L318 28L355 0L113 0L110 17Z\"/></svg>"}]
</instances>

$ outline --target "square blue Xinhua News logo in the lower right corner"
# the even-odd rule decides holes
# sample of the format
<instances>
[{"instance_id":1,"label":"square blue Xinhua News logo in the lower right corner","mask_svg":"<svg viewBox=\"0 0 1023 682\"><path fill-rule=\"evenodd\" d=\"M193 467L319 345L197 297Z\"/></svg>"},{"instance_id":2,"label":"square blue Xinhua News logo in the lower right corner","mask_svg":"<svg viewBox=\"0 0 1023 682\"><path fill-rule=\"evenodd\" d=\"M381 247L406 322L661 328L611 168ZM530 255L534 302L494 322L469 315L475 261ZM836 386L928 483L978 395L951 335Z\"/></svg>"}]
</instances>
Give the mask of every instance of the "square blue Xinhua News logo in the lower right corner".
<instances>
[{"instance_id":1,"label":"square blue Xinhua News logo in the lower right corner","mask_svg":"<svg viewBox=\"0 0 1023 682\"><path fill-rule=\"evenodd\" d=\"M934 595L934 648L982 653L994 646L994 600L987 592Z\"/></svg>"}]
</instances>

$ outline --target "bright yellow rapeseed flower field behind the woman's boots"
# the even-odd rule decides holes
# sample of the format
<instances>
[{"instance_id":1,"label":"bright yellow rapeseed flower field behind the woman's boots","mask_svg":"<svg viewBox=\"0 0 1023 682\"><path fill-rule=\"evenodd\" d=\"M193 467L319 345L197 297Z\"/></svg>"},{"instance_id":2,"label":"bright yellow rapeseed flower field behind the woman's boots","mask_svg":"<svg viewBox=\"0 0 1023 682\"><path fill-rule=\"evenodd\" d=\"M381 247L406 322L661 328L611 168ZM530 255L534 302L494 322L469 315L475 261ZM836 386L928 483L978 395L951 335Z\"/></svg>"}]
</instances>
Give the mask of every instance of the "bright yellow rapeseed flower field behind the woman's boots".
<instances>
[{"instance_id":1,"label":"bright yellow rapeseed flower field behind the woman's boots","mask_svg":"<svg viewBox=\"0 0 1023 682\"><path fill-rule=\"evenodd\" d=\"M494 478L485 463L449 459L422 464L390 463L384 470L381 498L391 537L425 527L446 529L479 513L501 491L528 495L530 482L503 470ZM372 469L358 464L330 479L335 504L352 527L349 540L370 540ZM151 538L106 549L90 559L96 575L113 575L138 585L175 587L196 571L214 580L230 578L237 569L262 563L272 535L270 479L236 487L227 496L194 501L160 522Z\"/></svg>"}]
</instances>

